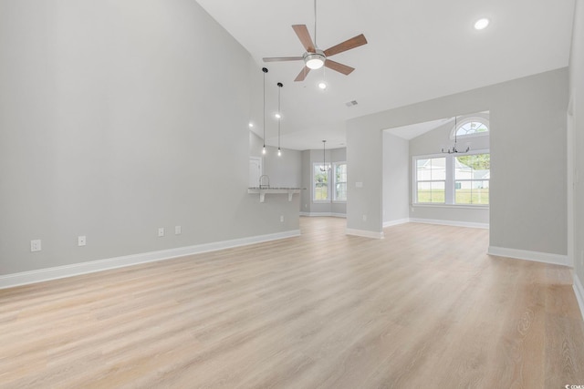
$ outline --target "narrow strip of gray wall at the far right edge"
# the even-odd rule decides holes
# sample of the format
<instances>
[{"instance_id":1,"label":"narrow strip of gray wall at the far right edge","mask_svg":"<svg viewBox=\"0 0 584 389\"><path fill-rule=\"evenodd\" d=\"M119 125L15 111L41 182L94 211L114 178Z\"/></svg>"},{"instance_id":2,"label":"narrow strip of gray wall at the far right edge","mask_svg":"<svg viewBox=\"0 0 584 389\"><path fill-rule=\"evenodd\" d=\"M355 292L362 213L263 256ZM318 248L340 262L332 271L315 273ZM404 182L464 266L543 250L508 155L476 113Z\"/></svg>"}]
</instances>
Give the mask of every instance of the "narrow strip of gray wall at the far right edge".
<instances>
[{"instance_id":1,"label":"narrow strip of gray wall at the far right edge","mask_svg":"<svg viewBox=\"0 0 584 389\"><path fill-rule=\"evenodd\" d=\"M584 3L576 2L574 33L569 64L569 95L573 118L571 144L574 164L574 268L580 284L584 285ZM584 312L582 312L584 314Z\"/></svg>"}]
</instances>

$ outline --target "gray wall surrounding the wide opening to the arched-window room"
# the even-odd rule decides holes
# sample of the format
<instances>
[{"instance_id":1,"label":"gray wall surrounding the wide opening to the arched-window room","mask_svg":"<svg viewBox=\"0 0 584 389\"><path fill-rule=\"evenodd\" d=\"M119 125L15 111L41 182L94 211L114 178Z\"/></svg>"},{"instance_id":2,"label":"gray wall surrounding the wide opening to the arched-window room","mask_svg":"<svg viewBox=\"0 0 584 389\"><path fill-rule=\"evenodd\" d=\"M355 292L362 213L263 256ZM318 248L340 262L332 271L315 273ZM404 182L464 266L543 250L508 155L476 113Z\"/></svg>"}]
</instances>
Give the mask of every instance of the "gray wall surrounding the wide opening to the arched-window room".
<instances>
[{"instance_id":1,"label":"gray wall surrounding the wide opening to the arched-window room","mask_svg":"<svg viewBox=\"0 0 584 389\"><path fill-rule=\"evenodd\" d=\"M348 229L381 231L382 129L489 110L491 246L566 254L567 107L563 68L349 120Z\"/></svg>"}]
</instances>

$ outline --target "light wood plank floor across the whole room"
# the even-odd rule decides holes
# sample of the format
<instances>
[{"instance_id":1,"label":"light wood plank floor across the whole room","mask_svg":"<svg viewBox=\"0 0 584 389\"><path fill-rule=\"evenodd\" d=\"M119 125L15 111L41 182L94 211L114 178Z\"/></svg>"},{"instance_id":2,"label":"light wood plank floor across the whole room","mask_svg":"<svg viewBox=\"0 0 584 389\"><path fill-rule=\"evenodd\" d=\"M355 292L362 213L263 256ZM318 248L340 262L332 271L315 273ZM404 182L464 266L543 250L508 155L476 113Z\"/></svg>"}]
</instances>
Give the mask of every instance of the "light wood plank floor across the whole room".
<instances>
[{"instance_id":1,"label":"light wood plank floor across the whole room","mask_svg":"<svg viewBox=\"0 0 584 389\"><path fill-rule=\"evenodd\" d=\"M2 388L584 385L568 268L488 231L302 236L0 291Z\"/></svg>"}]
</instances>

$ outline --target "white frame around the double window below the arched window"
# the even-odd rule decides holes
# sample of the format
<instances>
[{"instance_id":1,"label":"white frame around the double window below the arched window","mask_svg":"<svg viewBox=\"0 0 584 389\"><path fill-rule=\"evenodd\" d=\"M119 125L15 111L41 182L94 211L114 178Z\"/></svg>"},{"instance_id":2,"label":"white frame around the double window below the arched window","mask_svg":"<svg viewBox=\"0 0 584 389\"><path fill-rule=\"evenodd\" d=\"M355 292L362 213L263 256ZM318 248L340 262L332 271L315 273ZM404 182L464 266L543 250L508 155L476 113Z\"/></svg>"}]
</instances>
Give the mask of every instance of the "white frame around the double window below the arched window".
<instances>
[{"instance_id":1,"label":"white frame around the double window below the arched window","mask_svg":"<svg viewBox=\"0 0 584 389\"><path fill-rule=\"evenodd\" d=\"M488 132L487 132L488 134ZM467 203L456 203L455 198L455 185L456 179L454 177L455 174L455 166L454 166L454 159L456 157L468 156L468 155L478 155L478 154L491 154L490 149L483 148L483 149L476 149L471 150L467 153L458 153L458 154L426 154L426 155L417 155L412 156L412 206L415 207L446 207L446 208L469 208L469 209L488 209L490 206L490 192L489 192L489 204L467 204ZM445 158L446 159L446 179L445 179L445 188L444 188L444 202L418 202L418 169L417 169L417 161L418 159L433 159L433 158ZM490 187L490 170L489 169L489 187Z\"/></svg>"}]
</instances>

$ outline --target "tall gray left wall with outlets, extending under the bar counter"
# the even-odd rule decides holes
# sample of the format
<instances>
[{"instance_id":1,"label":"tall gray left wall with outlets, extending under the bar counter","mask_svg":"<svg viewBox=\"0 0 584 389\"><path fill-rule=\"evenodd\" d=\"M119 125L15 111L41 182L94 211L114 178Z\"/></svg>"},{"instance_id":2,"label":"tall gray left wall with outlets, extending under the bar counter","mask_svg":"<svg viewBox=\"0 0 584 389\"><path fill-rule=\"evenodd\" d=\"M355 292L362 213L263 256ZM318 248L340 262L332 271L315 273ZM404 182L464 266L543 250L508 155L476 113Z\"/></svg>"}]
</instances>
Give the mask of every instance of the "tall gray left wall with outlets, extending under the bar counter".
<instances>
[{"instance_id":1,"label":"tall gray left wall with outlets, extending under the bar counter","mask_svg":"<svg viewBox=\"0 0 584 389\"><path fill-rule=\"evenodd\" d=\"M247 194L252 67L193 1L1 2L0 274L297 230Z\"/></svg>"}]
</instances>

